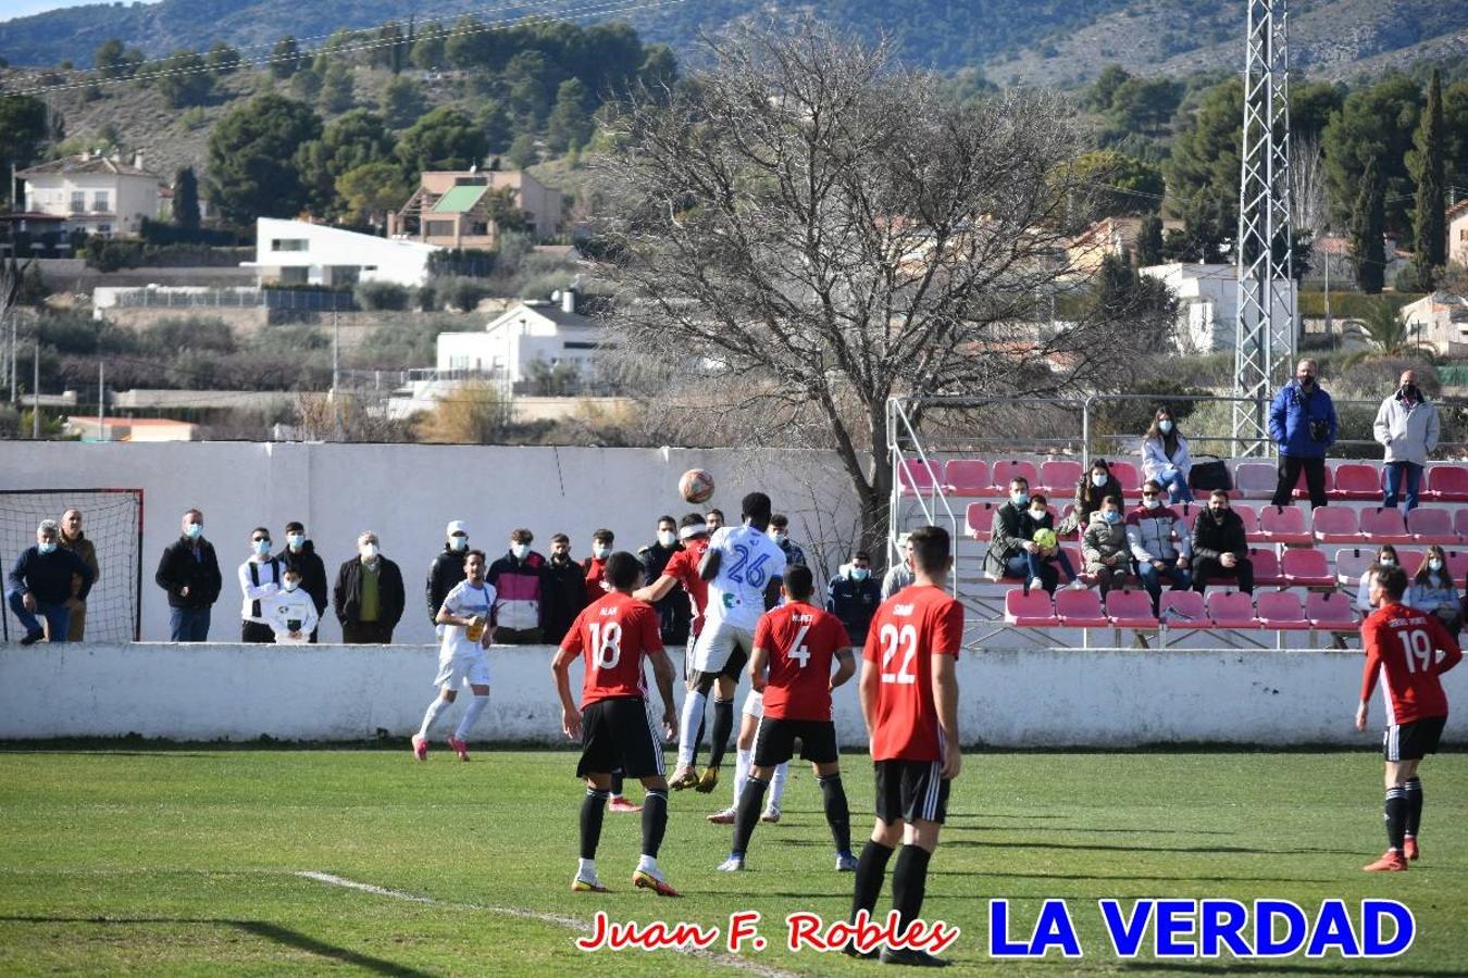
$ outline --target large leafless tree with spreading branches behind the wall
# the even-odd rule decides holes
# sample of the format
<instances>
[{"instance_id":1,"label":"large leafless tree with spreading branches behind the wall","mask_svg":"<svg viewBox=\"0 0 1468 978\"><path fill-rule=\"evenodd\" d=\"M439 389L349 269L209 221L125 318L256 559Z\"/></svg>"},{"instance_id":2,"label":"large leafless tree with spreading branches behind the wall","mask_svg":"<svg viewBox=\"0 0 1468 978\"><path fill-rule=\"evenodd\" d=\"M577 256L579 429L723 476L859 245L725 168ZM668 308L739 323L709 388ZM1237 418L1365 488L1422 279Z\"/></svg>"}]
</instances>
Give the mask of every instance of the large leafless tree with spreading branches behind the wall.
<instances>
[{"instance_id":1,"label":"large leafless tree with spreading branches behind the wall","mask_svg":"<svg viewBox=\"0 0 1468 978\"><path fill-rule=\"evenodd\" d=\"M1157 348L1169 324L1136 309L1048 320L1094 195L1060 100L947 104L809 22L711 47L706 72L634 92L593 161L611 326L741 441L834 449L868 545L888 397L1058 393Z\"/></svg>"}]
</instances>

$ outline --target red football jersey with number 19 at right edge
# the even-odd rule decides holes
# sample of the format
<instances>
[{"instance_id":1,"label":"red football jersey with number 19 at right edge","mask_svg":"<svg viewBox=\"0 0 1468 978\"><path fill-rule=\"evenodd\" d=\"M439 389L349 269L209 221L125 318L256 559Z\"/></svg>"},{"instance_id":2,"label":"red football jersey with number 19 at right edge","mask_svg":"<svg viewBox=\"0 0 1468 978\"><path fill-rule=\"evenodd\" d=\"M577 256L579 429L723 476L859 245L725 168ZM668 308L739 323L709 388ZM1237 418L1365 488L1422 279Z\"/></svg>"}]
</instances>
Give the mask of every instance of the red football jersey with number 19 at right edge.
<instances>
[{"instance_id":1,"label":"red football jersey with number 19 at right edge","mask_svg":"<svg viewBox=\"0 0 1468 978\"><path fill-rule=\"evenodd\" d=\"M1447 696L1437 677L1464 654L1436 614L1387 604L1361 623L1361 639L1367 647L1361 699L1371 698L1380 679L1389 726L1447 716ZM1437 652L1443 654L1440 660Z\"/></svg>"}]
</instances>

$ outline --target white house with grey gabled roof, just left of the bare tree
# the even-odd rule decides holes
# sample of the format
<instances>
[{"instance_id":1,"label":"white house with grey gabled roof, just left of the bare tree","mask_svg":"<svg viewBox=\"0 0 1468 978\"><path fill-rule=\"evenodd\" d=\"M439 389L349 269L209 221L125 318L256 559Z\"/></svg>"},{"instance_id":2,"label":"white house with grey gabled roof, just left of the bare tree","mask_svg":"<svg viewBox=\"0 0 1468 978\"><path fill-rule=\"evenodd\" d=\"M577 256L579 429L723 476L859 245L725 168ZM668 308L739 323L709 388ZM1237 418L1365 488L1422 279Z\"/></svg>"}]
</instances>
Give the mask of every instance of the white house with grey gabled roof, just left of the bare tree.
<instances>
[{"instance_id":1,"label":"white house with grey gabled roof, just left of the bare tree","mask_svg":"<svg viewBox=\"0 0 1468 978\"><path fill-rule=\"evenodd\" d=\"M559 302L521 302L479 333L439 333L439 374L484 374L511 384L526 380L530 364L574 364L590 377L602 350L611 349L605 327L575 311L575 292Z\"/></svg>"}]
</instances>

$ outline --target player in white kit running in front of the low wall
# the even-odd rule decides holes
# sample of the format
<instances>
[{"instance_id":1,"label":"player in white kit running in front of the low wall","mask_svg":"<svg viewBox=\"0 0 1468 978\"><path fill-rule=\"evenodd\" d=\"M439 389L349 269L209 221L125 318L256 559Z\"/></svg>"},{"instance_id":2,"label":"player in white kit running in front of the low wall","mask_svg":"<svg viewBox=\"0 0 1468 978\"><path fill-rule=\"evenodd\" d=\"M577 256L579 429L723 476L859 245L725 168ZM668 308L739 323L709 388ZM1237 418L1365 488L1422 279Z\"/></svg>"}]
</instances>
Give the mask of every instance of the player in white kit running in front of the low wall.
<instances>
[{"instance_id":1,"label":"player in white kit running in front of the low wall","mask_svg":"<svg viewBox=\"0 0 1468 978\"><path fill-rule=\"evenodd\" d=\"M474 694L458 729L449 736L449 746L461 761L468 760L468 733L489 705L489 655L484 650L495 638L495 585L484 581L483 550L464 554L464 573L465 578L443 598L436 619L445 626L443 644L439 647L439 674L433 679L439 695L429 704L423 726L413 738L413 755L420 761L429 760L429 730L439 714L458 698L459 686L468 686Z\"/></svg>"}]
</instances>

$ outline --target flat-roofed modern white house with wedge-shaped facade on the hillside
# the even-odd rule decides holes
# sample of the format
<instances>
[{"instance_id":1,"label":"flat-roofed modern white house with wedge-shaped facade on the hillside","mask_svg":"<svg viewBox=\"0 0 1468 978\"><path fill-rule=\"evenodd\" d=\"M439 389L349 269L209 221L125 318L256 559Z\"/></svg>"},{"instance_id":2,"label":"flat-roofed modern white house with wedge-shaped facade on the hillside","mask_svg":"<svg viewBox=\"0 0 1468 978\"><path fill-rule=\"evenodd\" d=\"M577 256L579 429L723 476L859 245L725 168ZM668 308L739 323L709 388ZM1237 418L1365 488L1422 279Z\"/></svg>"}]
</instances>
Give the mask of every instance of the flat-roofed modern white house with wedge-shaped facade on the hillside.
<instances>
[{"instance_id":1,"label":"flat-roofed modern white house with wedge-shaped facade on the hillside","mask_svg":"<svg viewBox=\"0 0 1468 978\"><path fill-rule=\"evenodd\" d=\"M374 238L357 232L261 217L255 221L255 268L260 284L349 286L358 282L393 282L421 286L429 279L435 245Z\"/></svg>"}]
</instances>

